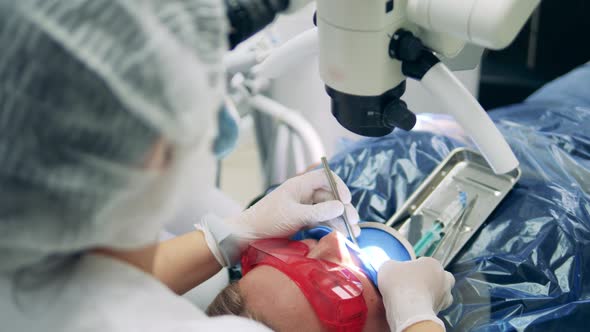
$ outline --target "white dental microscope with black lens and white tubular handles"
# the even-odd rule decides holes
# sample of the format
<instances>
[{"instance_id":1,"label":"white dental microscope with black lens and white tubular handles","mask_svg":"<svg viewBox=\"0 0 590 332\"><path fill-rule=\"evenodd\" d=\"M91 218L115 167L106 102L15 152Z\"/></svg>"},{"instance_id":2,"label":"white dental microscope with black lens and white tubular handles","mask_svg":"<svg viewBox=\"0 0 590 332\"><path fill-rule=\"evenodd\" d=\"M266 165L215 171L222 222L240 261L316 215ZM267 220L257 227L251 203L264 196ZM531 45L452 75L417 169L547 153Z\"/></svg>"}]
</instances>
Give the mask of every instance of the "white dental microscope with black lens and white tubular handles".
<instances>
[{"instance_id":1,"label":"white dental microscope with black lens and white tubular handles","mask_svg":"<svg viewBox=\"0 0 590 332\"><path fill-rule=\"evenodd\" d=\"M288 5L286 0L268 2L276 8ZM452 115L496 173L518 167L504 137L451 70L477 66L481 53L466 57L468 44L507 47L540 0L316 2L317 28L276 49L255 74L276 78L301 58L319 53L332 114L348 130L371 137L414 127L416 115L402 96L406 79L415 79L439 102L440 109L432 111ZM461 68L447 67L454 58L463 62Z\"/></svg>"}]
</instances>

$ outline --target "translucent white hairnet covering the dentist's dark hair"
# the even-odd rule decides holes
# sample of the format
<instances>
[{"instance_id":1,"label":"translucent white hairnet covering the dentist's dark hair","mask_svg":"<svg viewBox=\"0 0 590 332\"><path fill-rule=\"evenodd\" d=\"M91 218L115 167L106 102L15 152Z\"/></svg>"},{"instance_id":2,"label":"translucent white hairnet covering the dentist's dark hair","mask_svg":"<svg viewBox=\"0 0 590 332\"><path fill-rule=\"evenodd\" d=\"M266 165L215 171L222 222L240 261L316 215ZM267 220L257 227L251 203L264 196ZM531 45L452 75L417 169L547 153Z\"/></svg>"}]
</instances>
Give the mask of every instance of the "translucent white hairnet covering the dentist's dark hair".
<instances>
[{"instance_id":1,"label":"translucent white hairnet covering the dentist's dark hair","mask_svg":"<svg viewBox=\"0 0 590 332\"><path fill-rule=\"evenodd\" d=\"M210 148L224 17L220 0L0 0L0 270L156 238L125 208L163 208ZM162 139L176 166L148 171Z\"/></svg>"}]
</instances>

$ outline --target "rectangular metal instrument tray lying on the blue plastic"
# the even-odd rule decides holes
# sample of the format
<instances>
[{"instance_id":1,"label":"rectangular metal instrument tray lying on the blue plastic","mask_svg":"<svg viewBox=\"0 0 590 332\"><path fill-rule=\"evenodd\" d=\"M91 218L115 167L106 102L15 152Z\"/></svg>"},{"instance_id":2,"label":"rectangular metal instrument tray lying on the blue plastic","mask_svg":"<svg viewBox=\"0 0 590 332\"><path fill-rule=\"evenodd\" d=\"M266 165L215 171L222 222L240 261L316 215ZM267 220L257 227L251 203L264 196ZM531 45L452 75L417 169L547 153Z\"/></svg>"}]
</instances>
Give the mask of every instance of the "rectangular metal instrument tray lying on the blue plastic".
<instances>
[{"instance_id":1,"label":"rectangular metal instrument tray lying on the blue plastic","mask_svg":"<svg viewBox=\"0 0 590 332\"><path fill-rule=\"evenodd\" d=\"M442 239L427 255L447 266L512 190L520 176L519 168L508 174L495 174L479 153L466 148L453 150L386 225L397 228L415 245L439 220L445 208L464 192L467 204L462 220L445 225Z\"/></svg>"}]
</instances>

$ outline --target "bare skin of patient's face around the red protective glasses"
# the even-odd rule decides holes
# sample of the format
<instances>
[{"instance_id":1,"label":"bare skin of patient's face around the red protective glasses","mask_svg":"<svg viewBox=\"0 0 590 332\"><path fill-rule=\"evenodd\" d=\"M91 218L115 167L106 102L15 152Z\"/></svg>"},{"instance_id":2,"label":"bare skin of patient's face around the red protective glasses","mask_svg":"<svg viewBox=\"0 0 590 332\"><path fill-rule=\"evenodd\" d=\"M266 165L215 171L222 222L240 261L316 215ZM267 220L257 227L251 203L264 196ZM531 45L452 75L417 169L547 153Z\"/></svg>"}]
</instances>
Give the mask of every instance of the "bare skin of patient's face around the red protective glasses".
<instances>
[{"instance_id":1,"label":"bare skin of patient's face around the red protective glasses","mask_svg":"<svg viewBox=\"0 0 590 332\"><path fill-rule=\"evenodd\" d=\"M303 240L309 246L307 257L323 259L345 266L363 285L368 315L364 331L388 331L381 296L369 279L354 264L344 239L333 232L320 241ZM289 277L279 270L261 265L239 282L248 312L277 331L323 331L312 306Z\"/></svg>"}]
</instances>

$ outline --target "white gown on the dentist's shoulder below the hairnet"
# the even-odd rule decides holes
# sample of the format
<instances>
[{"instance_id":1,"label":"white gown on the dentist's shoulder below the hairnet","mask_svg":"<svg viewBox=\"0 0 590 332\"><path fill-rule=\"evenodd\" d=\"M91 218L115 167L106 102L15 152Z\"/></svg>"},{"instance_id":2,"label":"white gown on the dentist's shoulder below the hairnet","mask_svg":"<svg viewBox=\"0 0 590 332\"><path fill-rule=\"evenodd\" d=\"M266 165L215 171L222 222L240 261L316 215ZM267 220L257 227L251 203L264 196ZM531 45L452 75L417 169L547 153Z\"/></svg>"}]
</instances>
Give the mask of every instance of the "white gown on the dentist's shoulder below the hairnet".
<instances>
[{"instance_id":1,"label":"white gown on the dentist's shoulder below the hairnet","mask_svg":"<svg viewBox=\"0 0 590 332\"><path fill-rule=\"evenodd\" d=\"M2 331L269 331L236 316L209 318L150 275L86 255L68 272L27 282L0 278Z\"/></svg>"}]
</instances>

